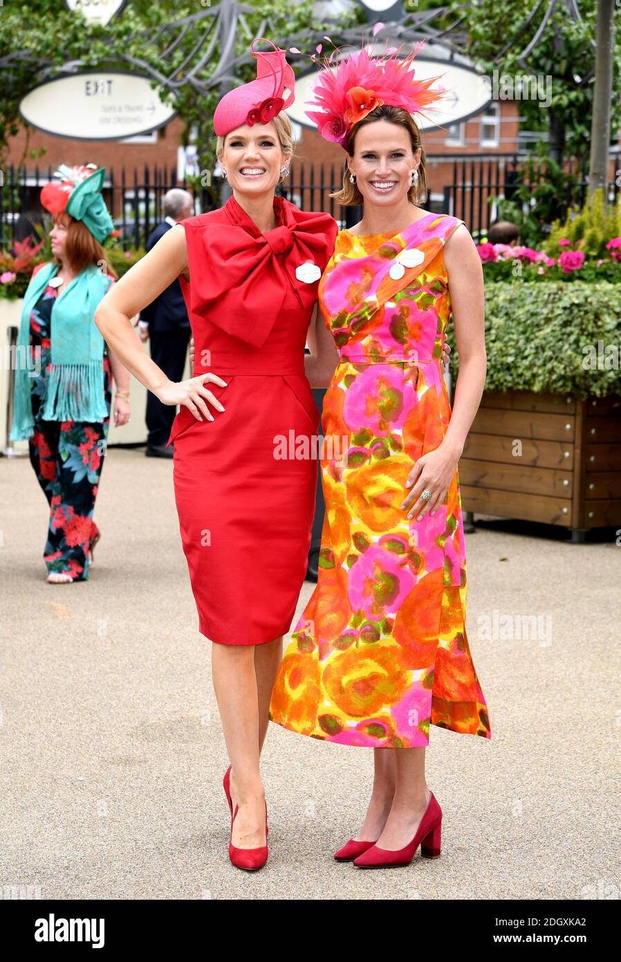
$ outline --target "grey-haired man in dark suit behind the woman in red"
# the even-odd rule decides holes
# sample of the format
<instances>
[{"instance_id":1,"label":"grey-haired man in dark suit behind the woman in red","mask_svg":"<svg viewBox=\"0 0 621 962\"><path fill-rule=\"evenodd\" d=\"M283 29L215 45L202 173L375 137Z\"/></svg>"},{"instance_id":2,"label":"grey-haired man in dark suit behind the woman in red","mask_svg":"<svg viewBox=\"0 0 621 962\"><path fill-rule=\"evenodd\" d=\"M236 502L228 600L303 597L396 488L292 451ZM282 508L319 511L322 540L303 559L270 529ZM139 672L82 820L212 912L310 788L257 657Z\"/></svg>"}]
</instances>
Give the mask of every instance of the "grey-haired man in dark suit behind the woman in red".
<instances>
[{"instance_id":1,"label":"grey-haired man in dark suit behind the woman in red","mask_svg":"<svg viewBox=\"0 0 621 962\"><path fill-rule=\"evenodd\" d=\"M149 237L147 251L176 223L191 217L192 208L192 198L186 190L168 190L163 199L165 217ZM181 381L186 366L190 328L186 303L178 280L174 280L151 304L140 311L138 334L142 342L147 338L151 341L151 357L166 377L171 381ZM166 448L166 443L175 414L174 405L162 404L155 394L147 393L147 457L173 456L172 444Z\"/></svg>"}]
</instances>

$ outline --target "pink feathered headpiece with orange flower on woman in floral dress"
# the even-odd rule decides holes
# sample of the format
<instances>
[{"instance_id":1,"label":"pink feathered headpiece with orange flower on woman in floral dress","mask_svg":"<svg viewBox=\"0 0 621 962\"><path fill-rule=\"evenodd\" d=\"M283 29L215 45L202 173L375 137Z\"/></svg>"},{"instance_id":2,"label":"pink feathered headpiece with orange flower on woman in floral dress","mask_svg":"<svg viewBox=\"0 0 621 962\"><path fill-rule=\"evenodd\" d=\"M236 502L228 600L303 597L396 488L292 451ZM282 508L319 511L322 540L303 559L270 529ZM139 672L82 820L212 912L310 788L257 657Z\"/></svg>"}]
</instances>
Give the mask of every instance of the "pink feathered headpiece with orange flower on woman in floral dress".
<instances>
[{"instance_id":1,"label":"pink feathered headpiece with orange flower on woman in floral dress","mask_svg":"<svg viewBox=\"0 0 621 962\"><path fill-rule=\"evenodd\" d=\"M371 57L362 47L335 65L327 58L313 88L314 100L305 111L317 125L321 136L348 149L349 133L367 114L382 107L401 107L409 114L424 114L435 101L446 93L442 87L430 89L439 77L416 80L413 60L423 45L415 45L406 57L399 57L400 49L391 56ZM394 48L392 48L394 50ZM333 54L334 57L334 54Z\"/></svg>"}]
</instances>

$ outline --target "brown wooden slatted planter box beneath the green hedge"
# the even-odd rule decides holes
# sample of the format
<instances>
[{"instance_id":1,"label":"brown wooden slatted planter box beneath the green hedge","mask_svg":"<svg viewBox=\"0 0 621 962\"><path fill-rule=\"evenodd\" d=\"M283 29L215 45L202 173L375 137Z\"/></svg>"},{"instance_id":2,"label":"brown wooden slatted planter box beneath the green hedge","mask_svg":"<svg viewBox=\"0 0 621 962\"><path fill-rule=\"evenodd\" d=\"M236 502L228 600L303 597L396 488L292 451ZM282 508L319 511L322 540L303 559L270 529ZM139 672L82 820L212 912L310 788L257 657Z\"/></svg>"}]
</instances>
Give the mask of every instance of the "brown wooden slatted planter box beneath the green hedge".
<instances>
[{"instance_id":1,"label":"brown wooden slatted planter box beneath the green hedge","mask_svg":"<svg viewBox=\"0 0 621 962\"><path fill-rule=\"evenodd\" d=\"M459 471L464 511L621 527L621 397L484 392Z\"/></svg>"}]
</instances>

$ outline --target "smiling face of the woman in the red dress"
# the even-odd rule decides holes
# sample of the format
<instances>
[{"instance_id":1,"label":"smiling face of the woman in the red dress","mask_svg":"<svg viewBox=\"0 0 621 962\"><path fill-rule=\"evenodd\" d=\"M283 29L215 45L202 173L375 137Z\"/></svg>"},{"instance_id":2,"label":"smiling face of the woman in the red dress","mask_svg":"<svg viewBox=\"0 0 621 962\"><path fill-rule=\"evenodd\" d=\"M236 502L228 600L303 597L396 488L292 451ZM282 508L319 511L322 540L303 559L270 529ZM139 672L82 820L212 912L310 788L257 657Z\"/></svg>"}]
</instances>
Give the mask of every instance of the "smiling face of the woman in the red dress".
<instances>
[{"instance_id":1,"label":"smiling face of the woman in the red dress","mask_svg":"<svg viewBox=\"0 0 621 962\"><path fill-rule=\"evenodd\" d=\"M273 193L280 180L286 155L273 121L266 124L243 124L224 139L220 164L227 172L232 190L259 196Z\"/></svg>"}]
</instances>

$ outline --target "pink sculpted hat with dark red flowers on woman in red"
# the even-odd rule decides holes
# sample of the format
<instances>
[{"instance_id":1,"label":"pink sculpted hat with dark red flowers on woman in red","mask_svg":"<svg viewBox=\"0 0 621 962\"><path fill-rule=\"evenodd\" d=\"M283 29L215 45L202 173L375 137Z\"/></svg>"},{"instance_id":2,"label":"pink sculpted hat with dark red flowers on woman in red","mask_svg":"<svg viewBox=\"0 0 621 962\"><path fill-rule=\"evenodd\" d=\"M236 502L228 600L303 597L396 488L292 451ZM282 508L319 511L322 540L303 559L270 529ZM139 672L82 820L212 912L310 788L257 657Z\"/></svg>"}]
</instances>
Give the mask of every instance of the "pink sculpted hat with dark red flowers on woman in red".
<instances>
[{"instance_id":1,"label":"pink sculpted hat with dark red flowers on woman in red","mask_svg":"<svg viewBox=\"0 0 621 962\"><path fill-rule=\"evenodd\" d=\"M274 49L255 50L255 43L260 40L271 43ZM243 124L252 127L256 123L269 123L293 103L295 76L286 63L285 51L261 37L252 41L252 55L257 58L257 79L229 90L215 108L213 129L218 137L226 137ZM286 100L283 99L285 88L290 91Z\"/></svg>"}]
</instances>

